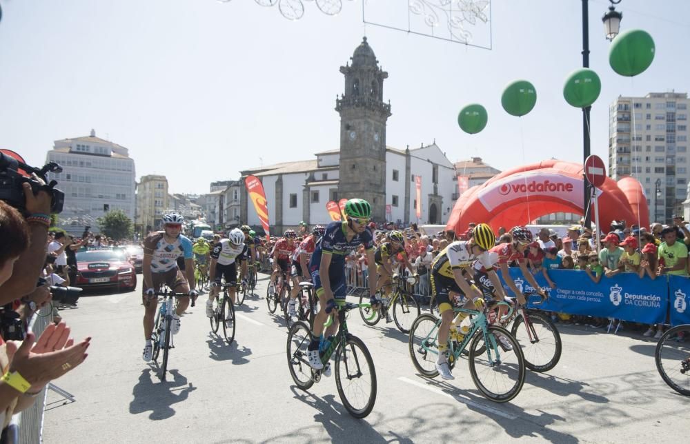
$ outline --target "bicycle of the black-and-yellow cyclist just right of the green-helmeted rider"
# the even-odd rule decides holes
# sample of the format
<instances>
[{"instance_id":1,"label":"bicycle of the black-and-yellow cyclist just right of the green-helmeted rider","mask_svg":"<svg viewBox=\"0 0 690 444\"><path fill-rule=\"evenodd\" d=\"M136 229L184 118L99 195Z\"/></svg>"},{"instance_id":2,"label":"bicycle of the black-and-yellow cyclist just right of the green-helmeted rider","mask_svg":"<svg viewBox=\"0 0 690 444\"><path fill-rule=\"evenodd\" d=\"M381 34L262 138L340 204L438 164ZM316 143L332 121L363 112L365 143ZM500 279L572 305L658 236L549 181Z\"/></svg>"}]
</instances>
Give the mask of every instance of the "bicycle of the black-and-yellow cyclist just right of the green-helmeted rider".
<instances>
[{"instance_id":1,"label":"bicycle of the black-and-yellow cyclist just right of the green-helmeted rider","mask_svg":"<svg viewBox=\"0 0 690 444\"><path fill-rule=\"evenodd\" d=\"M387 300L384 298L384 292L379 290L377 296L381 301L384 301L382 304L383 307L377 310L373 310L371 307L361 307L359 308L359 314L362 315L362 320L364 320L366 325L376 325L380 319L386 319L386 322L391 322L391 315L388 312L392 309L393 321L395 321L397 329L403 333L409 333L412 323L417 319L417 316L420 316L422 313L420 303L417 302L415 296L404 290L402 282L404 278L402 276L393 274L391 279L392 283L384 285L384 287L393 287L391 290L391 299ZM417 283L417 278L409 276L405 281L408 284L414 285ZM363 293L359 296L359 303L364 303L365 298L368 298L368 296ZM371 316L372 313L374 316Z\"/></svg>"}]
</instances>

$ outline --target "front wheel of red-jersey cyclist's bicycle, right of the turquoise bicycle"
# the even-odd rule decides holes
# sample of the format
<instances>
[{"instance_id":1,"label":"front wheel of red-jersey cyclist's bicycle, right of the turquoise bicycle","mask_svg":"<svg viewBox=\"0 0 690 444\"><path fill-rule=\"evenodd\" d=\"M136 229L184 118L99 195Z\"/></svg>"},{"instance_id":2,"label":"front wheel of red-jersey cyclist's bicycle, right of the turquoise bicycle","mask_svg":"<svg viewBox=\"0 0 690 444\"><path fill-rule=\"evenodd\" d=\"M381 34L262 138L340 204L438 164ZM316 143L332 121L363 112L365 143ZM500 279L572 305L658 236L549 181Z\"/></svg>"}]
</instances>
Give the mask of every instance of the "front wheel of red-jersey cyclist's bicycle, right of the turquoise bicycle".
<instances>
[{"instance_id":1,"label":"front wheel of red-jersey cyclist's bicycle, right of the turquoise bicycle","mask_svg":"<svg viewBox=\"0 0 690 444\"><path fill-rule=\"evenodd\" d=\"M519 314L511 327L511 334L522 347L524 365L533 372L548 372L560 360L561 341L558 329L548 316L525 312L528 323Z\"/></svg>"}]
</instances>

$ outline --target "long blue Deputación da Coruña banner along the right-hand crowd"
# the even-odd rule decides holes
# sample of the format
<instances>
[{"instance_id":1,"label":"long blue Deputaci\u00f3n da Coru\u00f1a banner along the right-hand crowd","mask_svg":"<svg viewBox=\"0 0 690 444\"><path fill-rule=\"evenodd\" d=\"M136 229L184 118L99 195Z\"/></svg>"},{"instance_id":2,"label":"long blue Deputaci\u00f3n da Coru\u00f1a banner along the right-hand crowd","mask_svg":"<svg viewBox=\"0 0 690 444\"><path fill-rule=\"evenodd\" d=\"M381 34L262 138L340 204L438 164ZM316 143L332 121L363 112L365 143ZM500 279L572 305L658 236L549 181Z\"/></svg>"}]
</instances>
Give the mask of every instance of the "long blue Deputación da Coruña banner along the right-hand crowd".
<instances>
[{"instance_id":1,"label":"long blue Deputaci\u00f3n da Coru\u00f1a banner along the right-hand crowd","mask_svg":"<svg viewBox=\"0 0 690 444\"><path fill-rule=\"evenodd\" d=\"M522 292L534 289L522 277L520 268L511 268L515 285ZM498 273L501 276L501 273ZM622 319L647 324L666 319L668 285L666 279L640 279L634 273L620 273L612 278L602 277L594 283L584 271L549 270L549 277L557 287L546 285L544 275L535 275L537 283L549 294L549 299L531 308ZM509 296L511 292L508 291Z\"/></svg>"}]
</instances>

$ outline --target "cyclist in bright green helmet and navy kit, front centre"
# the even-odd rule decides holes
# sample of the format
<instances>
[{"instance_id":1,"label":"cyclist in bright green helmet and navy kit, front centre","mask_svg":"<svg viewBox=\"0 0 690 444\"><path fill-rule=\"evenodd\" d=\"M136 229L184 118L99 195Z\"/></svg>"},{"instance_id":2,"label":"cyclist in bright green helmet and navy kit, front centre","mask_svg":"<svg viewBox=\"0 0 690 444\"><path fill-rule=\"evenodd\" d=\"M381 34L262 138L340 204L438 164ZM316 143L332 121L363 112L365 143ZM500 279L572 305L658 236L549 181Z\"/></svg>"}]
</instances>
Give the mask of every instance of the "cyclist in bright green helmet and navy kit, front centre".
<instances>
[{"instance_id":1,"label":"cyclist in bright green helmet and navy kit, front centre","mask_svg":"<svg viewBox=\"0 0 690 444\"><path fill-rule=\"evenodd\" d=\"M309 261L309 272L314 283L314 291L319 296L320 310L314 320L315 340L308 346L307 357L309 365L315 370L324 369L325 376L331 376L330 363L324 368L319 359L319 345L324 323L328 314L335 307L335 299L344 300L345 286L345 256L364 245L368 264L369 298L374 307L380 304L376 299L376 268L374 261L373 239L366 224L371 218L371 205L364 199L350 199L345 203L346 221L334 221L328 224L326 232L317 243L314 254ZM325 337L337 331L337 316L333 324L328 327Z\"/></svg>"}]
</instances>

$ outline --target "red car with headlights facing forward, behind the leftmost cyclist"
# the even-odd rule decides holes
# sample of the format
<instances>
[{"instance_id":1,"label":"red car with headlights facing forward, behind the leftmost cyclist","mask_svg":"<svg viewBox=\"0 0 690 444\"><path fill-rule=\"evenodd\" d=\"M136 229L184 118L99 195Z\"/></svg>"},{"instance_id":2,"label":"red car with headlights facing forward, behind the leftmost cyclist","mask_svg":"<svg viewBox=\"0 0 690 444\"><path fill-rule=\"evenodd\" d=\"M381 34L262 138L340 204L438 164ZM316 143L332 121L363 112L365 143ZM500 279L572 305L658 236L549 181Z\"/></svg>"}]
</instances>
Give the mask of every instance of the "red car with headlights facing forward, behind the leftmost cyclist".
<instances>
[{"instance_id":1,"label":"red car with headlights facing forward, behind the leftmost cyclist","mask_svg":"<svg viewBox=\"0 0 690 444\"><path fill-rule=\"evenodd\" d=\"M77 252L77 282L81 288L114 287L132 291L137 273L121 248Z\"/></svg>"}]
</instances>

